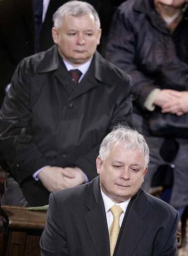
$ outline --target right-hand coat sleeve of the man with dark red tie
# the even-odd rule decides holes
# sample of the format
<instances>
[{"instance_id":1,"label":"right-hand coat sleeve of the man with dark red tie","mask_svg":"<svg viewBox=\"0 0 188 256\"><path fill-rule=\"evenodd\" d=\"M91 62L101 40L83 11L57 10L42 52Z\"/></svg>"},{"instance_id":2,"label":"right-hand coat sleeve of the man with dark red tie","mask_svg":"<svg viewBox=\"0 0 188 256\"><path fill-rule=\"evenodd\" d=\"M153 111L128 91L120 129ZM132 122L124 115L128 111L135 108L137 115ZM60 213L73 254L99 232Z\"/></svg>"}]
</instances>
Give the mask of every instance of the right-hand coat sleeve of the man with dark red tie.
<instances>
[{"instance_id":1,"label":"right-hand coat sleeve of the man with dark red tie","mask_svg":"<svg viewBox=\"0 0 188 256\"><path fill-rule=\"evenodd\" d=\"M119 82L118 80L116 81ZM131 124L131 113L132 113L132 81L130 76L126 75L124 80L121 80L123 83L123 90L121 95L119 95L119 100L114 107L114 113L107 127L106 136L117 124L130 125ZM101 143L101 141L100 141ZM89 178L91 181L94 177L97 176L95 161L99 155L99 145L97 145L92 151L87 155L80 157L74 164L78 166Z\"/></svg>"}]
</instances>

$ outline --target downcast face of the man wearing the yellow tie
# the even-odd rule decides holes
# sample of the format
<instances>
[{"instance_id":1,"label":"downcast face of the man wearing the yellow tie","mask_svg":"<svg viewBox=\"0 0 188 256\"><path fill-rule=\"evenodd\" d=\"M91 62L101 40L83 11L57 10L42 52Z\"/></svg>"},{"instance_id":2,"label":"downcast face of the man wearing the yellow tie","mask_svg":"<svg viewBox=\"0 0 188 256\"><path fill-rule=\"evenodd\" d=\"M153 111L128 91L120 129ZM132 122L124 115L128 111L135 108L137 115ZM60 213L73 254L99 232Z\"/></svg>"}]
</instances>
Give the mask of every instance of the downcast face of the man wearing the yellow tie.
<instances>
[{"instance_id":1,"label":"downcast face of the man wearing the yellow tie","mask_svg":"<svg viewBox=\"0 0 188 256\"><path fill-rule=\"evenodd\" d=\"M143 153L121 145L113 146L103 161L98 156L96 164L102 191L117 203L136 194L147 172Z\"/></svg>"}]
</instances>

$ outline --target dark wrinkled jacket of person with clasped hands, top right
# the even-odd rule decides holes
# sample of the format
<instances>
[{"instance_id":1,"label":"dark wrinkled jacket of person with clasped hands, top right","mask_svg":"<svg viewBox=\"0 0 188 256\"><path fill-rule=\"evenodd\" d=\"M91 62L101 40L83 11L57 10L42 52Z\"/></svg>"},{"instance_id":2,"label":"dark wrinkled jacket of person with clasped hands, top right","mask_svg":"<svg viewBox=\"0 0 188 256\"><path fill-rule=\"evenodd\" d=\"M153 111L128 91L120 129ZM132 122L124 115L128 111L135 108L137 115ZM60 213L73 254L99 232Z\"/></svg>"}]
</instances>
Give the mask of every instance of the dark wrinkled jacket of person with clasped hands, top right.
<instances>
[{"instance_id":1,"label":"dark wrinkled jacket of person with clasped hands, top right","mask_svg":"<svg viewBox=\"0 0 188 256\"><path fill-rule=\"evenodd\" d=\"M135 104L155 88L187 90L188 10L173 34L153 0L129 0L114 15L106 57L132 76Z\"/></svg>"}]
</instances>

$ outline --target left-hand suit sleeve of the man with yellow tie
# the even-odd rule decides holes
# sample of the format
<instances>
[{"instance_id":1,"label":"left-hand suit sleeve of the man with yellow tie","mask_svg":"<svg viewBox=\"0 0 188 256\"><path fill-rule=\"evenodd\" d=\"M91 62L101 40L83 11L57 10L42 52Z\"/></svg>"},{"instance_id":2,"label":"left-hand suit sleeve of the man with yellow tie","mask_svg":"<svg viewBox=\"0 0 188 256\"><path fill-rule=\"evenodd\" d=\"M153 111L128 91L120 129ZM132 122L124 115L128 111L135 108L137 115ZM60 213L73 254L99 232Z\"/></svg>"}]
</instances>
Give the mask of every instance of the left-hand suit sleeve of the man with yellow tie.
<instances>
[{"instance_id":1,"label":"left-hand suit sleeve of the man with yellow tie","mask_svg":"<svg viewBox=\"0 0 188 256\"><path fill-rule=\"evenodd\" d=\"M49 196L45 230L40 239L41 256L69 256L66 234L53 194Z\"/></svg>"}]
</instances>

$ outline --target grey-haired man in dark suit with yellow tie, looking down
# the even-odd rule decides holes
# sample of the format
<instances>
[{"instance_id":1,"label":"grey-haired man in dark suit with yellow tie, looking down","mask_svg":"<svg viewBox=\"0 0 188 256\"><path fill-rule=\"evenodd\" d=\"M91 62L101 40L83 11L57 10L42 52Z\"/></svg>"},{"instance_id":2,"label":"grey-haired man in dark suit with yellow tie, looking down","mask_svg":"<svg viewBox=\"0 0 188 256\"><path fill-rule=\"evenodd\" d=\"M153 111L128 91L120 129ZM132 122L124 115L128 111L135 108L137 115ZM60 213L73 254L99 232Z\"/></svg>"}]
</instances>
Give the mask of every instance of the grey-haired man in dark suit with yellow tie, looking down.
<instances>
[{"instance_id":1,"label":"grey-haired man in dark suit with yellow tie, looking down","mask_svg":"<svg viewBox=\"0 0 188 256\"><path fill-rule=\"evenodd\" d=\"M109 133L99 177L50 195L41 256L176 256L178 212L141 188L148 158L137 131L119 125Z\"/></svg>"}]
</instances>

